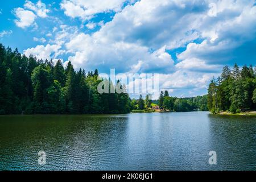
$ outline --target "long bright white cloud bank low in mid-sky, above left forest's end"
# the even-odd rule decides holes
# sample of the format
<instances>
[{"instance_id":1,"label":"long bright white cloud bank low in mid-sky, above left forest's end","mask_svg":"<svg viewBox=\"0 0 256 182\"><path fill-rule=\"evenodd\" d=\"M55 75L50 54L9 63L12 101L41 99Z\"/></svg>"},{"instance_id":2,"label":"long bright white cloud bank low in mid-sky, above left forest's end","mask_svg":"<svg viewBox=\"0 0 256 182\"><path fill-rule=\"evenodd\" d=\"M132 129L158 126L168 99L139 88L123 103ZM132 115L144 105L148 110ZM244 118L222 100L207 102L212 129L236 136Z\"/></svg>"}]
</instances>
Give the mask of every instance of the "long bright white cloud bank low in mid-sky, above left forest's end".
<instances>
[{"instance_id":1,"label":"long bright white cloud bank low in mid-sky, above left forest's end","mask_svg":"<svg viewBox=\"0 0 256 182\"><path fill-rule=\"evenodd\" d=\"M69 60L76 68L97 67L101 71L115 68L118 72L161 72L166 69L171 72L174 67L174 61L165 47L149 52L144 46L126 42L105 42L84 33L73 37L65 46L75 54Z\"/></svg>"}]
</instances>

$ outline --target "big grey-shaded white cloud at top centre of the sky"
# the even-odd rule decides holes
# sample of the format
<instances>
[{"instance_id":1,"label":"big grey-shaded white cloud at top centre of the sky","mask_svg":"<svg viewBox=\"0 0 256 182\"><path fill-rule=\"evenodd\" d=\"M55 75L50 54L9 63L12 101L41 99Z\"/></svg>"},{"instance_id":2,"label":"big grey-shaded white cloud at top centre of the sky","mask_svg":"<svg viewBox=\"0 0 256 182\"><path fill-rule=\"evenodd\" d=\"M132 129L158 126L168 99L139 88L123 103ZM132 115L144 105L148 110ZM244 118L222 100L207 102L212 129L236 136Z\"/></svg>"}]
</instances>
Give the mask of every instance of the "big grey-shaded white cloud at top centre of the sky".
<instances>
[{"instance_id":1,"label":"big grey-shaded white cloud at top centre of the sky","mask_svg":"<svg viewBox=\"0 0 256 182\"><path fill-rule=\"evenodd\" d=\"M115 14L112 22L106 23L98 34L154 49L164 45L167 49L184 46L200 37L195 30L202 15L194 13L193 8L200 12L205 6L198 1L185 3L184 6L180 1L139 1Z\"/></svg>"}]
</instances>

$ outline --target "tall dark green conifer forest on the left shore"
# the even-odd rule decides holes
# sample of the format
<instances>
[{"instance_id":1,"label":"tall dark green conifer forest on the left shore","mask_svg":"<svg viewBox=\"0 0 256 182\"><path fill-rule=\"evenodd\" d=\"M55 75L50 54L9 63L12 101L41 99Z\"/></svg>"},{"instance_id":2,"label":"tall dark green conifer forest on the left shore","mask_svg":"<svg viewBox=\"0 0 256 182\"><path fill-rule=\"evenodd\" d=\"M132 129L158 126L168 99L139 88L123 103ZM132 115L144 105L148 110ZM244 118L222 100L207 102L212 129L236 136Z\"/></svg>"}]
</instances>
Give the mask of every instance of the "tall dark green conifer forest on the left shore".
<instances>
[{"instance_id":1,"label":"tall dark green conifer forest on the left shore","mask_svg":"<svg viewBox=\"0 0 256 182\"><path fill-rule=\"evenodd\" d=\"M0 44L0 114L129 113L126 93L100 94L98 71L26 57ZM109 89L114 86L109 82Z\"/></svg>"}]
</instances>

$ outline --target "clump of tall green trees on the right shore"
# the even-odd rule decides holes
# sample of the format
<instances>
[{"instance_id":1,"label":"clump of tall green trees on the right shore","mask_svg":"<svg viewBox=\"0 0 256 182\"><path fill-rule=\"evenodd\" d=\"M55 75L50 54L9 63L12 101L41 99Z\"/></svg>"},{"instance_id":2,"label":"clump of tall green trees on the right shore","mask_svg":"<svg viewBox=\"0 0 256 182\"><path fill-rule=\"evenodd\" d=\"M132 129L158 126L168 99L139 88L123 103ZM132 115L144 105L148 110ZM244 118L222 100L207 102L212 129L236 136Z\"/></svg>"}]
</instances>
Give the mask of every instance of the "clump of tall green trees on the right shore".
<instances>
[{"instance_id":1,"label":"clump of tall green trees on the right shore","mask_svg":"<svg viewBox=\"0 0 256 182\"><path fill-rule=\"evenodd\" d=\"M256 109L256 69L237 64L231 70L223 68L221 76L213 80L208 88L208 108L212 113L230 111L240 113Z\"/></svg>"}]
</instances>

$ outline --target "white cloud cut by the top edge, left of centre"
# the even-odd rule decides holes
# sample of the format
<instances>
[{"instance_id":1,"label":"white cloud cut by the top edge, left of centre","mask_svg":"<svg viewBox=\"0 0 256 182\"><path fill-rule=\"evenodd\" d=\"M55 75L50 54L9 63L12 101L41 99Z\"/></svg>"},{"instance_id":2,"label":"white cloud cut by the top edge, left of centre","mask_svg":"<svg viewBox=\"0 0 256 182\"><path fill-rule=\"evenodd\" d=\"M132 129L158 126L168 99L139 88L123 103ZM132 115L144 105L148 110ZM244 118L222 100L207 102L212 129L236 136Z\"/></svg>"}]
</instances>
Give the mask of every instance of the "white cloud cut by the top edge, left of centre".
<instances>
[{"instance_id":1,"label":"white cloud cut by the top edge, left of centre","mask_svg":"<svg viewBox=\"0 0 256 182\"><path fill-rule=\"evenodd\" d=\"M65 15L72 18L91 19L97 13L121 11L126 0L63 0L60 3Z\"/></svg>"}]
</instances>

